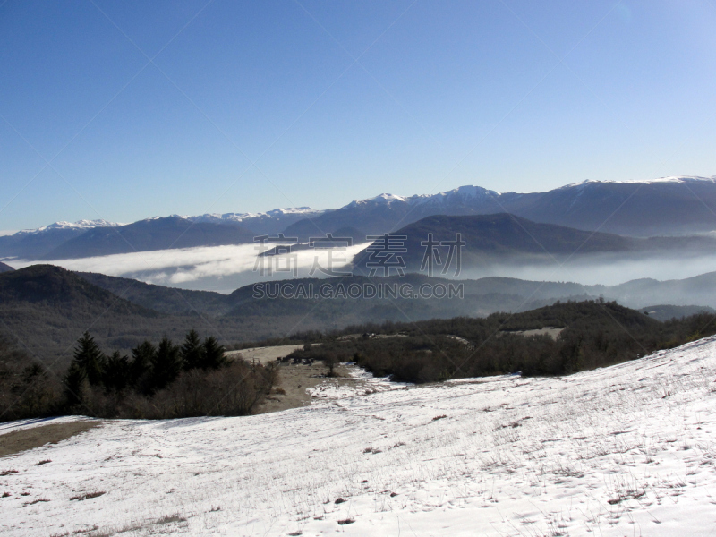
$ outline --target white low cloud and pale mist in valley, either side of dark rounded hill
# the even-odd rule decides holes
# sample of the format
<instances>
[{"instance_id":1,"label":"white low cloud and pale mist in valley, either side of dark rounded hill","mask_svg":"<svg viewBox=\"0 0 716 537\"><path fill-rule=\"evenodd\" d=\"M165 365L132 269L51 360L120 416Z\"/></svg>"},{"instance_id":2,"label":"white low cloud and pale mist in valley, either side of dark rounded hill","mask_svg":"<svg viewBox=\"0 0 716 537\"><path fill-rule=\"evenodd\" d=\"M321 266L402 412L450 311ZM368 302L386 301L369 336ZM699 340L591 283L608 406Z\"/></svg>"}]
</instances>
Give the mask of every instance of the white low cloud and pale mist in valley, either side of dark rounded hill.
<instances>
[{"instance_id":1,"label":"white low cloud and pale mist in valley, either side of dark rounded hill","mask_svg":"<svg viewBox=\"0 0 716 537\"><path fill-rule=\"evenodd\" d=\"M356 244L341 251L295 251L298 276L307 277L314 260L328 268L349 271L354 255L367 244ZM76 260L56 260L52 264L80 272L98 272L109 276L132 277L161 286L199 289L230 293L240 286L266 281L255 271L257 250L254 244L208 246L164 251L141 251ZM268 260L267 260L268 262ZM38 264L38 261L11 260L13 268ZM268 264L266 265L268 267ZM652 255L629 257L618 255L589 255L567 262L545 259L527 263L463 264L460 278L515 277L533 281L569 281L584 286L615 286L639 278L658 280L683 279L716 270L716 253L693 253L689 256ZM451 276L451 269L447 276ZM320 277L320 272L314 274ZM441 276L439 270L435 276ZM274 272L272 280L291 277L289 272Z\"/></svg>"}]
</instances>

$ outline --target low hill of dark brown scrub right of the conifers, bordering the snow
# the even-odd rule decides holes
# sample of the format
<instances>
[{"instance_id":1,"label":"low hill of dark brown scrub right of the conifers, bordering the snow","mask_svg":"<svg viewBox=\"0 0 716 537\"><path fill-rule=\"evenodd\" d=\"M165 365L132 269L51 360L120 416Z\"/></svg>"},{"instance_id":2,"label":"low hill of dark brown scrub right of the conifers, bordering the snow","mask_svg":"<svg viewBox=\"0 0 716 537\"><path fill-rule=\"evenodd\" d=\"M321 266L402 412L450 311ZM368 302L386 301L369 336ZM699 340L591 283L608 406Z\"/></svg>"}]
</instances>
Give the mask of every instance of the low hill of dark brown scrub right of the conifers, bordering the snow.
<instances>
[{"instance_id":1,"label":"low hill of dark brown scrub right of the conifers, bordering the snow","mask_svg":"<svg viewBox=\"0 0 716 537\"><path fill-rule=\"evenodd\" d=\"M545 327L563 330L556 339L518 333ZM306 345L294 356L356 362L377 376L416 383L516 372L554 376L634 360L714 333L716 317L708 313L660 322L597 300L485 319L358 325L320 340L304 337L321 345Z\"/></svg>"}]
</instances>

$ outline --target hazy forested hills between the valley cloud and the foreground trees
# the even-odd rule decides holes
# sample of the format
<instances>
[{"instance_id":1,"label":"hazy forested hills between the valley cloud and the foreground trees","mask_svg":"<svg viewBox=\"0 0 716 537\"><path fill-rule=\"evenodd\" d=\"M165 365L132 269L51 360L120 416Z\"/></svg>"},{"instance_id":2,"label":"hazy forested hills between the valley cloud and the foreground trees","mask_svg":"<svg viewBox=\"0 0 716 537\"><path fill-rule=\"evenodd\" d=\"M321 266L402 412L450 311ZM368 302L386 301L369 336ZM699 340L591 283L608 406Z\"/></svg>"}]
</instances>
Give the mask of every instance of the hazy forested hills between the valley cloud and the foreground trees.
<instances>
[{"instance_id":1,"label":"hazy forested hills between the valley cloud and the foreground trees","mask_svg":"<svg viewBox=\"0 0 716 537\"><path fill-rule=\"evenodd\" d=\"M408 274L405 278L329 278L294 280L297 286L328 284L449 285L441 278ZM453 282L455 283L455 282ZM253 286L232 294L152 286L122 277L74 273L35 265L0 274L0 335L15 337L39 358L68 359L85 330L108 348L128 350L144 338L163 334L179 339L191 328L214 335L224 345L286 337L297 331L329 330L385 320L480 317L494 311L528 311L557 300L603 296L630 307L644 304L701 304L697 308L649 305L654 317L708 311L716 305L716 272L685 280L634 280L620 286L581 286L506 277L463 280L462 298L413 300L336 297L262 299ZM275 285L276 283L274 283Z\"/></svg>"}]
</instances>

